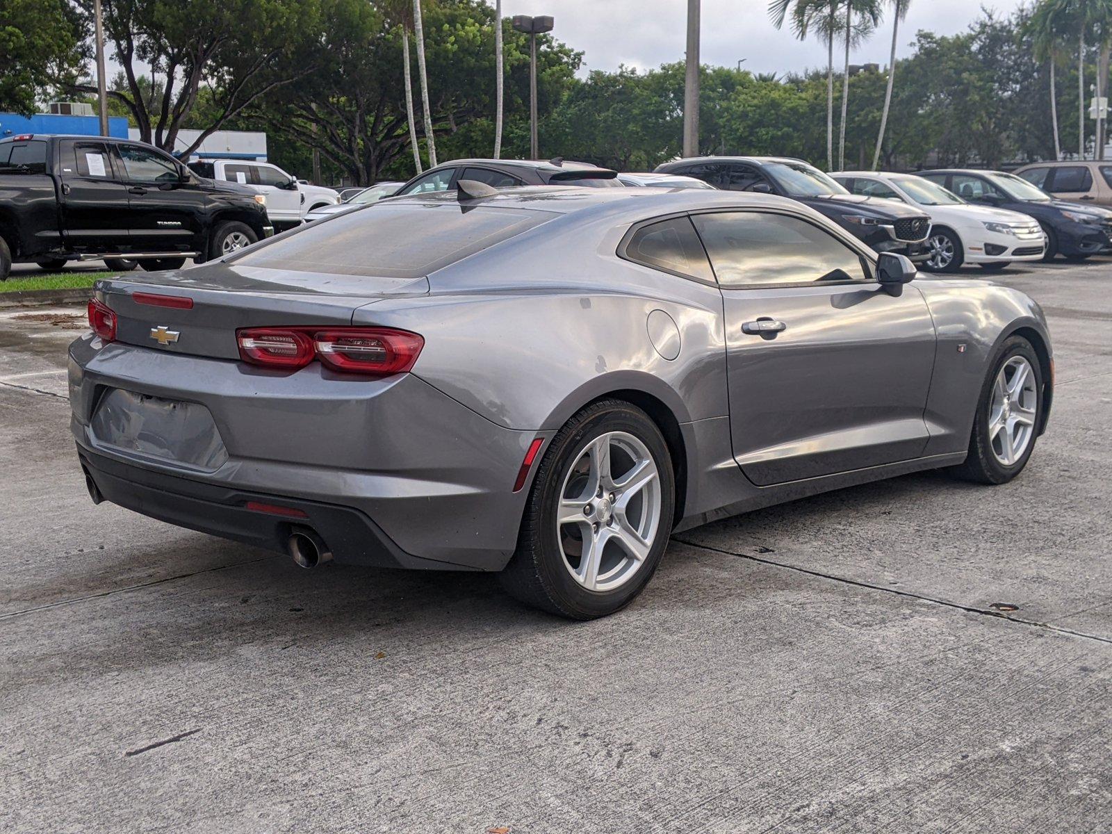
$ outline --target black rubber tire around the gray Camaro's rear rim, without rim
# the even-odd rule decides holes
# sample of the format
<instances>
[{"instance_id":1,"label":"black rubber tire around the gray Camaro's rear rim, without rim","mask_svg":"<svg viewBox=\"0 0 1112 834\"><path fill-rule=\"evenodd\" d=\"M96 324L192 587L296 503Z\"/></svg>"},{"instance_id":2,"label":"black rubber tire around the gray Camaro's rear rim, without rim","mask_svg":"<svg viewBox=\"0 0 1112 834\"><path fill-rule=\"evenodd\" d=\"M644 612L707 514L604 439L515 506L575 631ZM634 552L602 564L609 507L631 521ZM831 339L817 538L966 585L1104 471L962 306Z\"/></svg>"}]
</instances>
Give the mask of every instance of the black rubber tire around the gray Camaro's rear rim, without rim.
<instances>
[{"instance_id":1,"label":"black rubber tire around the gray Camaro's rear rim, without rim","mask_svg":"<svg viewBox=\"0 0 1112 834\"><path fill-rule=\"evenodd\" d=\"M572 467L592 440L609 431L632 435L648 450L659 476L661 512L653 544L639 567L631 572L624 584L598 592L588 590L572 577L564 547L556 536L556 510ZM652 578L668 545L674 513L672 456L656 424L629 403L616 399L594 403L548 441L525 505L517 549L499 575L502 585L526 605L570 619L613 614L628 605Z\"/></svg>"}]
</instances>

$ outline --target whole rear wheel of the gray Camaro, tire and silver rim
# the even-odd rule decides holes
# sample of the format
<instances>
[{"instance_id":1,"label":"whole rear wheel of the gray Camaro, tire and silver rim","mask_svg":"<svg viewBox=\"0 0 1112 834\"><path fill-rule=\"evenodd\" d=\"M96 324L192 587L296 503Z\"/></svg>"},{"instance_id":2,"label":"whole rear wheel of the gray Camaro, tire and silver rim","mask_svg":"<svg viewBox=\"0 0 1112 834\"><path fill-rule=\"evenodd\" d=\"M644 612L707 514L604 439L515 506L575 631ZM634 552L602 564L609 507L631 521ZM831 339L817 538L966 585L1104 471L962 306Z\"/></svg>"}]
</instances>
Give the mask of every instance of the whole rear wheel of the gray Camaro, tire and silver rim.
<instances>
[{"instance_id":1,"label":"whole rear wheel of the gray Camaro, tire and silver rim","mask_svg":"<svg viewBox=\"0 0 1112 834\"><path fill-rule=\"evenodd\" d=\"M548 443L503 587L572 619L613 614L656 570L674 508L656 424L620 400L587 406Z\"/></svg>"}]
</instances>

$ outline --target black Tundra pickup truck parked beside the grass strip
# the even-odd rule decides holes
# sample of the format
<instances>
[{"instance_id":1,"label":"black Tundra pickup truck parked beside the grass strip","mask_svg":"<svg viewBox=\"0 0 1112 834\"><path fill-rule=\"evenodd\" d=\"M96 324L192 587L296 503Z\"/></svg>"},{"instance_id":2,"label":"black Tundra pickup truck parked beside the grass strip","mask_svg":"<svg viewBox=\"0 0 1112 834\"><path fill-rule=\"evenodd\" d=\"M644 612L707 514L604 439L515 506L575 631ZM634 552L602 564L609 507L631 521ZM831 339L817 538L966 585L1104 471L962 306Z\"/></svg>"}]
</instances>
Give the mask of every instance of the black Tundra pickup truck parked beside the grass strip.
<instances>
[{"instance_id":1,"label":"black Tundra pickup truck parked beside the grass strip","mask_svg":"<svg viewBox=\"0 0 1112 834\"><path fill-rule=\"evenodd\" d=\"M142 142L90 136L0 139L0 280L12 262L177 269L274 234L266 197L216 182Z\"/></svg>"}]
</instances>

